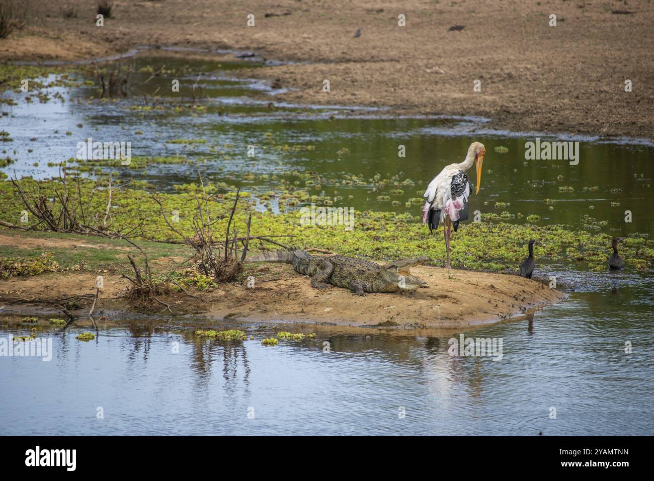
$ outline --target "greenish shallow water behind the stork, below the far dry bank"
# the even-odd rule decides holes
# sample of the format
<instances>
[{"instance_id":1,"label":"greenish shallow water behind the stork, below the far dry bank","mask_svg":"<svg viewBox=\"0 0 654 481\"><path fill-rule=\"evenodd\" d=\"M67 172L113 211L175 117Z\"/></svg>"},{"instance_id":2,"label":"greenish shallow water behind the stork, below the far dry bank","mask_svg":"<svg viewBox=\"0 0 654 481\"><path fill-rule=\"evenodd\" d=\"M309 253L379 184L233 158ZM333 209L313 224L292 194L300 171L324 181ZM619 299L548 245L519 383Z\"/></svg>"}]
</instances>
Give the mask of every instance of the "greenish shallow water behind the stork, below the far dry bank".
<instances>
[{"instance_id":1,"label":"greenish shallow water behind the stork, below the far dry bank","mask_svg":"<svg viewBox=\"0 0 654 481\"><path fill-rule=\"evenodd\" d=\"M277 102L275 93L281 89L258 80L233 78L237 69L256 68L258 64L252 62L186 61L151 54L132 61L134 88L126 98L90 101L99 94L95 86L49 88L51 97L59 93L63 101L54 98L46 103L26 103L24 94L10 94L18 105L0 104L1 110L10 113L0 117L0 129L9 132L14 141L0 147L16 162L1 170L7 175L15 171L18 177L56 176L59 162L74 157L77 143L92 137L94 141L129 141L132 156L181 155L198 160L193 164L151 165L145 171L129 166L112 169L123 177L146 180L162 191L172 190L175 184L198 182L198 170L209 181L226 182L255 194L280 190L279 181L262 178L262 174L296 182L293 172L313 172L311 177L319 185L307 186L307 190L310 194L339 196L335 206L420 215L418 204L407 208L405 202L421 198L443 166L461 162L470 142L481 140L487 156L481 190L473 205L481 213L506 211L515 216L509 221L519 223L524 222L519 214L535 214L542 217L542 223L577 225L583 215L589 215L608 221L607 228L616 235L654 234L649 213L654 202L654 145L649 141L600 143L542 136L543 140L579 141L579 164L526 161L525 142L535 141L536 134L500 135L478 119L395 118L384 116L383 110ZM152 74L142 69L151 67L156 72L162 66L174 73L143 84ZM171 78L180 81L179 93L171 92ZM209 97L209 101L194 104L190 99L196 80L196 96ZM158 103L154 97L145 96L153 92L161 97ZM254 100L254 93L264 98ZM268 108L271 102L273 110ZM153 105L154 110L143 111L143 107ZM175 111L173 107L179 105L200 105L206 111ZM176 139L205 143L170 143ZM249 145L255 146L254 157L247 156ZM284 145L290 148L281 149ZM398 157L399 145L405 146L404 158ZM495 152L496 147L507 147L508 152ZM48 162L54 165L48 167ZM35 163L39 165L35 167ZM244 173L256 176L244 179ZM362 185L347 185L345 177L351 175L362 175ZM368 183L375 175L409 183L389 185L377 192ZM474 183L472 169L470 176ZM300 179L300 183L304 187L305 180ZM389 192L398 188L404 192ZM379 200L379 195L388 199ZM545 204L547 198L555 204ZM508 205L496 206L496 202ZM274 200L271 208L276 208ZM624 221L627 209L632 211L631 224Z\"/></svg>"}]
</instances>

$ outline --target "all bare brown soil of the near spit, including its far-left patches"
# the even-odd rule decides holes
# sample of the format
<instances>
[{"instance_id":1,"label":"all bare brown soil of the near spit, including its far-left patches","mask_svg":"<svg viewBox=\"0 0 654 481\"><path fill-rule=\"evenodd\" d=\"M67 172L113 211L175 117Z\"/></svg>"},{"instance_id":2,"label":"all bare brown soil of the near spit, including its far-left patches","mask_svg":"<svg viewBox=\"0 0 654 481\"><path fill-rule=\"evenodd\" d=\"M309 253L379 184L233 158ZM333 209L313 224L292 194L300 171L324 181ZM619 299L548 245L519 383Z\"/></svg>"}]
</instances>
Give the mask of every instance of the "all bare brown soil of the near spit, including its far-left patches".
<instances>
[{"instance_id":1,"label":"all bare brown soil of the near spit, including its far-left patches","mask_svg":"<svg viewBox=\"0 0 654 481\"><path fill-rule=\"evenodd\" d=\"M0 242L29 248L43 247L49 239L0 236ZM90 240L92 242L92 240ZM79 241L57 241L59 247L79 246ZM224 284L213 291L189 291L160 297L176 314L201 314L211 319L239 321L288 321L298 323L330 323L349 326L410 328L458 328L480 323L497 322L544 304L558 302L564 294L517 276L465 270L448 272L442 268L419 266L411 272L428 281L428 289L409 294L368 294L360 297L347 289L330 287L313 289L309 278L300 276L286 264L261 264L254 275L254 288L240 284ZM116 273L102 274L104 289L95 308L97 316L133 315L124 302L116 300L127 285ZM0 306L3 313L57 313L51 302L82 294L95 293L95 272L57 272L33 277L12 277L0 280ZM29 300L27 304L13 304ZM84 317L90 306L76 315ZM162 306L154 306L156 311Z\"/></svg>"}]
</instances>

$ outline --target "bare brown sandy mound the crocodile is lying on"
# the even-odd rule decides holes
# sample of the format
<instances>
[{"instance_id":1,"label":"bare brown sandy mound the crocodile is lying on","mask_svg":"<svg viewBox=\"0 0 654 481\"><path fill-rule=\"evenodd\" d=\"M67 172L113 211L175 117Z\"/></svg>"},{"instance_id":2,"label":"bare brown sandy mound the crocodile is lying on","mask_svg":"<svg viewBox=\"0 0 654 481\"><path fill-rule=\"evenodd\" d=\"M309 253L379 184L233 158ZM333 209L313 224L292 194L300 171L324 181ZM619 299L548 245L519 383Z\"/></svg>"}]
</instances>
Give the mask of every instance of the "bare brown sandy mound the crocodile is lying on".
<instances>
[{"instance_id":1,"label":"bare brown sandy mound the crocodile is lying on","mask_svg":"<svg viewBox=\"0 0 654 481\"><path fill-rule=\"evenodd\" d=\"M254 289L239 286L212 293L207 314L232 319L309 319L337 325L438 329L497 322L563 298L542 283L517 276L448 272L429 266L411 269L412 274L428 281L428 289L365 297L338 287L313 289L309 278L296 274L291 266L275 266L271 270L275 281L255 281Z\"/></svg>"}]
</instances>

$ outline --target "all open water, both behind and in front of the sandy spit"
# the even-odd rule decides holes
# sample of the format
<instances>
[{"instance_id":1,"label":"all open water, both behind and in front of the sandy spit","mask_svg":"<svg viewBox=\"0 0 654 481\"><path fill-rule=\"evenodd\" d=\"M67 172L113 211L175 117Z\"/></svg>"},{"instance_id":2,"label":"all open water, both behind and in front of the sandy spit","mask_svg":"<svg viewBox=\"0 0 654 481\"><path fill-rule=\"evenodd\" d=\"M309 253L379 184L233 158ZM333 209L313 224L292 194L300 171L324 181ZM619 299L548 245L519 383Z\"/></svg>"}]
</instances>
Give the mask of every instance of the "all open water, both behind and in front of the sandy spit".
<instances>
[{"instance_id":1,"label":"all open water, both behind and in front of the sandy spit","mask_svg":"<svg viewBox=\"0 0 654 481\"><path fill-rule=\"evenodd\" d=\"M171 107L154 112L130 109L143 105L138 95L87 102L97 95L88 86L48 89L60 92L63 103L25 103L12 94L18 105L0 104L10 112L0 118L0 130L14 139L2 147L17 161L3 171L16 171L18 177L56 175L48 162L74 156L77 141L91 136L131 141L133 156L209 159L192 166L150 166L145 172L121 168L122 175L147 180L161 190L196 181L198 168L210 181L254 192L278 185L259 177L246 181L244 173L274 173L294 181L297 177L290 172L313 171L321 185L310 187L311 193L342 196L335 205L419 215L419 206L406 209L404 203L420 197L445 164L460 162L470 141L480 140L488 153L482 188L473 196L475 209L537 214L542 223L579 224L588 214L608 221L602 232L654 233L649 214L654 149L648 143L581 139L577 166L566 161L525 165L525 141L535 135L489 132L478 119L385 118L383 111L285 105L264 82L230 78L230 70L241 63L152 56L135 62L137 68L153 65L155 71L164 63L179 68L185 74L180 80L186 94L203 72L199 84L211 97L202 103L207 111L194 115ZM148 77L146 72L137 75L141 82ZM160 88L162 94L168 86L169 78L156 78L142 90ZM255 91L269 100L252 100ZM269 101L275 103L272 110ZM35 137L37 141L30 140ZM266 145L270 138L275 145L315 149L257 149L254 160L247 157L247 145ZM166 143L173 139L207 142L186 147ZM405 158L398 158L400 144L407 149ZM508 147L508 152L495 152L498 146ZM397 176L414 185L400 187L404 194L392 196L400 205L392 205L377 200L387 192L373 192L371 185L343 185L344 173L365 179L377 173L388 179ZM560 187L574 191L559 192ZM611 192L615 189L620 191ZM553 209L544 198L557 201ZM510 205L496 208L496 202ZM633 213L632 224L623 221L625 209ZM39 338L52 338L52 361L0 357L1 433L651 434L654 277L630 270L585 272L566 262L549 270L574 287L568 300L530 317L464 333L501 338L502 361L449 355L448 340L458 338L459 332L311 327L308 331L318 334L316 340L264 347L262 338L298 328L241 325L239 329L255 339L236 343L199 342L192 327L101 326L96 340L88 343L75 339L81 329L46 329ZM29 329L0 325L0 338ZM179 342L177 354L172 353L174 342ZM330 353L323 351L324 342L330 343ZM632 353L625 353L625 342L631 343ZM100 406L103 419L96 418ZM552 407L555 419L550 418ZM254 419L248 418L249 408L254 408ZM401 408L404 417L398 416Z\"/></svg>"}]
</instances>

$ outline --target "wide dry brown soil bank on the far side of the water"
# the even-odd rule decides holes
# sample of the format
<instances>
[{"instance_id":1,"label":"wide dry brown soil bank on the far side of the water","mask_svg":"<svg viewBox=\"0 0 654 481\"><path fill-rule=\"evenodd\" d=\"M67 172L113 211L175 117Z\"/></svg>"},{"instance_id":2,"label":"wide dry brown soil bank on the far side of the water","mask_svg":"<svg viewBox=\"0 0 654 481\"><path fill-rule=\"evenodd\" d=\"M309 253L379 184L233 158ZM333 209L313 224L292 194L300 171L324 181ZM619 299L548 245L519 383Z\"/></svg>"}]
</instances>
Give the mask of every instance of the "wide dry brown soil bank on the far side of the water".
<instances>
[{"instance_id":1,"label":"wide dry brown soil bank on the far side of the water","mask_svg":"<svg viewBox=\"0 0 654 481\"><path fill-rule=\"evenodd\" d=\"M651 138L654 9L649 3L521 0L116 1L38 3L31 26L0 40L0 60L78 60L141 45L254 50L292 61L251 75L291 88L279 99L485 116L493 128ZM34 2L32 3L35 4ZM628 10L629 14L613 14ZM398 26L398 14L406 26ZM247 27L247 15L256 24ZM276 14L268 16L266 14ZM557 26L548 25L557 15ZM451 26L464 26L450 31ZM354 31L362 34L354 38ZM249 73L250 75L250 73ZM322 92L330 80L331 92ZM481 92L473 92L473 80ZM624 91L625 79L633 92Z\"/></svg>"}]
</instances>

